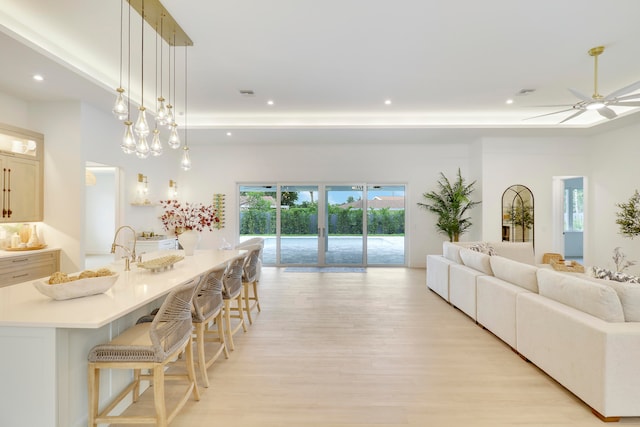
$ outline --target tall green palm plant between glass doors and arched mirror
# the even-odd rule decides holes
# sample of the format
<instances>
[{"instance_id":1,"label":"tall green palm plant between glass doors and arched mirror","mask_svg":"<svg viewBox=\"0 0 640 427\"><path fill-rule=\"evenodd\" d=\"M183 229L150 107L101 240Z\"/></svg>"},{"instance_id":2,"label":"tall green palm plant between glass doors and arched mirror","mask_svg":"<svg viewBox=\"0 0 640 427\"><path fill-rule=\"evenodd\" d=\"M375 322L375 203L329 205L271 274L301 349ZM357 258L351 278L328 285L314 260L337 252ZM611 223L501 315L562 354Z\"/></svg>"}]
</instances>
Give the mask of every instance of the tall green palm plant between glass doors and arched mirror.
<instances>
[{"instance_id":1,"label":"tall green palm plant between glass doors and arched mirror","mask_svg":"<svg viewBox=\"0 0 640 427\"><path fill-rule=\"evenodd\" d=\"M472 225L471 218L465 214L469 209L481 203L470 199L476 182L467 184L459 168L453 183L442 172L440 172L440 177L437 182L438 190L424 193L422 197L426 203L418 202L418 206L435 213L438 216L436 223L438 231L446 234L449 241L457 242L460 235Z\"/></svg>"}]
</instances>

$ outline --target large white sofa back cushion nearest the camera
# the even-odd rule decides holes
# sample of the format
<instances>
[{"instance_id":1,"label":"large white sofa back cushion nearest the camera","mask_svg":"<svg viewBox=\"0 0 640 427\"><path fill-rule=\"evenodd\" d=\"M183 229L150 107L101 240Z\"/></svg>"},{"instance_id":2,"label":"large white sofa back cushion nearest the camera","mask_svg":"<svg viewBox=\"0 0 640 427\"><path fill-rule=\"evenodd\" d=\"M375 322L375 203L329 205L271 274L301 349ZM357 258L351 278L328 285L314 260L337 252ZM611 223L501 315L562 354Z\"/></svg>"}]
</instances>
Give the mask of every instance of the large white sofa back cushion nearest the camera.
<instances>
[{"instance_id":1,"label":"large white sofa back cushion nearest the camera","mask_svg":"<svg viewBox=\"0 0 640 427\"><path fill-rule=\"evenodd\" d=\"M569 274L539 268L540 295L607 322L624 322L624 312L613 288Z\"/></svg>"}]
</instances>

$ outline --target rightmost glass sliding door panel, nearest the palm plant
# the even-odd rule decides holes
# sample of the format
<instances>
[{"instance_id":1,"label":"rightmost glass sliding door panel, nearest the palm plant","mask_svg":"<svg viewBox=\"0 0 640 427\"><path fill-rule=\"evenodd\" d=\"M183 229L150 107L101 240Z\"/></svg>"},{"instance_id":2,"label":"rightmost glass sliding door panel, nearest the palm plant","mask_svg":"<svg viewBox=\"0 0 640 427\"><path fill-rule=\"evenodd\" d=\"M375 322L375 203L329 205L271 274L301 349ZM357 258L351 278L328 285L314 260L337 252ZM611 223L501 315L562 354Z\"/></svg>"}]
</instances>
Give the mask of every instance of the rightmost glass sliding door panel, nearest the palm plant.
<instances>
[{"instance_id":1,"label":"rightmost glass sliding door panel, nearest the palm plant","mask_svg":"<svg viewBox=\"0 0 640 427\"><path fill-rule=\"evenodd\" d=\"M405 186L367 187L367 264L404 265Z\"/></svg>"}]
</instances>

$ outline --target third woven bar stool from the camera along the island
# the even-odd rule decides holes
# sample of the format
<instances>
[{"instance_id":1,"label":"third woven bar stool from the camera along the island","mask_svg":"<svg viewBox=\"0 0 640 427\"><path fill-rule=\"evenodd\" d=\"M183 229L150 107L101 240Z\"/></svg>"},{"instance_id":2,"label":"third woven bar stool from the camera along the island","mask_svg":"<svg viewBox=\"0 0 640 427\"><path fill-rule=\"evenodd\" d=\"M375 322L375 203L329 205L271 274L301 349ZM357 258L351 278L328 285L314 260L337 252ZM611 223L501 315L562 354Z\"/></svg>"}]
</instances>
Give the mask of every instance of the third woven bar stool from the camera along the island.
<instances>
[{"instance_id":1,"label":"third woven bar stool from the camera along the island","mask_svg":"<svg viewBox=\"0 0 640 427\"><path fill-rule=\"evenodd\" d=\"M247 254L243 254L232 260L223 280L222 298L224 301L224 320L230 350L235 349L233 334L238 332L240 328L242 328L244 332L247 332L247 325L244 323L244 313L242 309L242 271L246 259ZM232 314L232 312L235 314ZM235 327L231 326L231 319L238 319L238 324L235 325Z\"/></svg>"}]
</instances>

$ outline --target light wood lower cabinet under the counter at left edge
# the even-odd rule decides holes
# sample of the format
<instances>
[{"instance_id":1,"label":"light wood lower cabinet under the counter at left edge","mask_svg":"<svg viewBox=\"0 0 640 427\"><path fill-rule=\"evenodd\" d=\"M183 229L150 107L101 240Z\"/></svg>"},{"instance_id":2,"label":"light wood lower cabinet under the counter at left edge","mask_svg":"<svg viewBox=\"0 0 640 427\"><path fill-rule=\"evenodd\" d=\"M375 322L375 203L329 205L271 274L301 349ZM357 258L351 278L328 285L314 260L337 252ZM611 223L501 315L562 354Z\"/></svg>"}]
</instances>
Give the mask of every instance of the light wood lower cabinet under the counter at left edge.
<instances>
[{"instance_id":1,"label":"light wood lower cabinet under the counter at left edge","mask_svg":"<svg viewBox=\"0 0 640 427\"><path fill-rule=\"evenodd\" d=\"M60 250L0 257L0 287L50 276L60 270Z\"/></svg>"}]
</instances>

